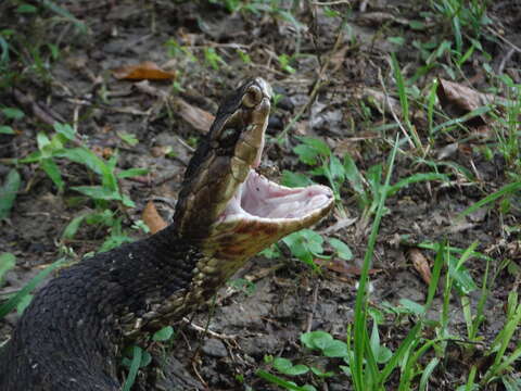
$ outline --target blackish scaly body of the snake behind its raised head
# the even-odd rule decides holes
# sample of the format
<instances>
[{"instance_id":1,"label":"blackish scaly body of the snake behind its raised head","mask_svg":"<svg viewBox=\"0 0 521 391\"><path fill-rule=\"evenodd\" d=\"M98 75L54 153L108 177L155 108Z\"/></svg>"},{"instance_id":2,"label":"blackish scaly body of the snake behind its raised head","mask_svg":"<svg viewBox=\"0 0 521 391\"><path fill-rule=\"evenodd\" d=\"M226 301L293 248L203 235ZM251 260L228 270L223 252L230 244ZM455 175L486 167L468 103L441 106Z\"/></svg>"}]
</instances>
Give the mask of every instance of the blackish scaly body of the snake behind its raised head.
<instances>
[{"instance_id":1,"label":"blackish scaly body of the snake behind its raised head","mask_svg":"<svg viewBox=\"0 0 521 391\"><path fill-rule=\"evenodd\" d=\"M186 292L203 257L168 227L61 270L35 297L3 349L0 389L119 389L123 340L165 325L166 310L176 316L193 310Z\"/></svg>"}]
</instances>

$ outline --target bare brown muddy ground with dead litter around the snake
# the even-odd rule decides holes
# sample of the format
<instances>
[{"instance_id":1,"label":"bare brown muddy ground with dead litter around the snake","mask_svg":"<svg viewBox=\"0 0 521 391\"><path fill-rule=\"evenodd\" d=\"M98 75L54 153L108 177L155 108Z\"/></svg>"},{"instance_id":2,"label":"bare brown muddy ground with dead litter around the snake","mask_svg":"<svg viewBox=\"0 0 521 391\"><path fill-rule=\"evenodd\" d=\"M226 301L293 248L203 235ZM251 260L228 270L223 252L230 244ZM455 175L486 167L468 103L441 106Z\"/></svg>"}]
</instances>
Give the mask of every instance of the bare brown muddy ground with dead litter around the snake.
<instances>
[{"instance_id":1,"label":"bare brown muddy ground with dead litter around the snake","mask_svg":"<svg viewBox=\"0 0 521 391\"><path fill-rule=\"evenodd\" d=\"M366 99L368 90L383 91L384 86L395 90L390 53L396 54L404 75L410 77L423 64L412 42L425 42L432 36L446 34L444 26L429 20L425 23L432 25L428 29L409 27L408 22L421 20L421 12L430 10L427 2L418 1L354 1L345 26L341 17L328 16L323 8L305 1L294 2L292 10L298 25L275 13L254 14L243 10L230 14L224 7L206 1L60 2L85 23L87 31L58 17L50 22L49 17L25 16L5 4L0 5L2 28L12 27L16 18L16 28L27 38L27 48L41 46L41 53L47 53L49 48L45 43L53 42L60 54L45 75L37 67L20 64L20 81L0 90L2 105L18 106L26 113L16 124L16 135L0 135L0 176L10 169L7 160L33 152L36 134L51 129L45 115L35 111L37 105L46 115L77 126L82 141L100 154L118 150L120 168L150 169L145 178L120 181L137 205L123 211L125 229L140 218L149 200L175 203L191 155L190 144L202 130L179 114L181 109L176 101L164 98L174 94L176 88L173 89L171 81L137 84L116 79L112 70L151 61L175 71L175 83L182 87L177 96L206 113L215 113L220 98L239 80L262 76L281 96L271 114L270 136L279 135L307 105L290 130L288 141L268 147L266 165L276 166L280 172L306 172L308 167L291 151L298 143L295 136L313 136L325 140L340 156L350 153L358 169L366 173L374 164L385 164L391 150L387 140L393 140L399 131L397 127L384 127L395 121L389 113L381 114L370 105ZM364 4L366 8L360 10ZM335 10L346 11L346 7L340 4ZM43 15L49 16L49 11L46 12ZM519 2L494 2L488 17L510 42L521 47ZM389 37L403 37L406 43L395 45ZM190 48L194 58L176 52L179 49L171 43L173 39ZM492 66L511 71L511 77L520 83L521 53L510 53L510 47L503 40L485 40L483 45L493 56ZM214 48L224 61L217 60L213 67L212 60L205 61L204 48ZM238 49L250 55L250 63L241 60ZM296 52L300 55L290 62L295 72L289 73L278 56ZM425 89L433 78L445 77L443 70L436 67L416 80L420 94L428 93ZM470 87L486 89L488 80L479 58L465 64L463 73ZM315 99L309 101L313 93ZM420 113L414 113L411 118L420 137L425 139L427 119L421 116L424 112L416 112L414 104L411 111ZM119 133L130 134L139 142L130 147L117 136ZM383 302L397 304L401 299L424 302L428 286L410 256L410 250L419 243L448 239L450 245L467 249L478 241L476 251L494 260L491 275L497 274L485 305L486 320L481 332L492 340L503 327L506 298L517 281L512 273L499 266L505 258L518 265L521 262L519 236L505 227L519 226L521 215L516 211L499 215L494 209L482 209L465 220L456 219L458 213L507 184L503 156L496 153L487 160L476 152L484 142L483 138L459 137L455 133L436 135L435 147L428 152L425 161L450 161L467 168L476 180L466 181L447 165L449 184L414 184L387 200L389 212L381 223L370 276L370 301L374 307L382 308ZM455 149L447 148L455 144ZM174 153L165 153L167 148ZM67 187L96 181L80 165L66 161L59 164ZM48 176L34 164L18 168L22 190L10 218L0 223L0 252L15 254L17 266L8 274L0 293L20 289L42 265L60 256L63 244L80 257L98 249L106 235L104 229L82 226L74 240L60 242L67 223L89 211L92 204L78 203L77 193L69 189L58 192ZM392 182L430 171L427 163L398 153ZM175 349L151 348L155 352L155 369L152 374L149 371L148 377L140 375L140 387L151 389L148 384L156 382L157 389L165 390L246 390L249 387L275 390L255 375L267 365L265 355L322 365L320 357L300 346L298 337L308 330L326 330L345 340L347 325L354 316L356 282L370 231L370 224L363 224L353 190L345 185L341 194L346 215L333 213L316 229L342 239L352 249L354 257L344 261L342 270L323 268L321 275L317 275L292 260L285 250L281 258L255 257L238 276L254 281L253 293L230 287L223 289L215 307L201 308L195 314L192 320L199 328L182 321L176 325L178 337L171 343ZM136 238L140 235L143 234L134 234ZM434 252L421 251L432 263ZM485 262L472 257L467 267L481 286ZM471 293L472 303L475 304L479 294L479 290ZM459 299L455 297L450 305L450 331L465 336ZM441 306L440 297L434 300L430 316L436 318ZM2 340L10 333L15 318L16 314L11 314L0 323ZM412 324L409 317L399 321L390 317L381 328L382 343L393 349ZM204 332L206 327L209 332ZM468 357L455 349L436 369L431 389L453 390L469 365ZM351 390L346 376L325 379L317 387Z\"/></svg>"}]
</instances>

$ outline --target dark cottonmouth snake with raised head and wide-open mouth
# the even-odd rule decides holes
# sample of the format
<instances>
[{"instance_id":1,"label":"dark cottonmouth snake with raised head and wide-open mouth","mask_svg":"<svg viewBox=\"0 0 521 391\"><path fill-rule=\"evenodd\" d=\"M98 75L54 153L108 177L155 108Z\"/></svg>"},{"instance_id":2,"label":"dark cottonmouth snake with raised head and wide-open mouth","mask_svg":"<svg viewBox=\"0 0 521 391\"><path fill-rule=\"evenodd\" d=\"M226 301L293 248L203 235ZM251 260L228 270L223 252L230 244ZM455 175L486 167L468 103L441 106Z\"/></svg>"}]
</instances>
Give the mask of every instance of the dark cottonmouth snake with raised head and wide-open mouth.
<instances>
[{"instance_id":1,"label":"dark cottonmouth snake with raised head and wide-open mouth","mask_svg":"<svg viewBox=\"0 0 521 391\"><path fill-rule=\"evenodd\" d=\"M258 251L325 216L331 190L255 172L271 89L226 98L186 171L174 223L63 269L34 298L0 357L2 391L119 390L122 343L193 311Z\"/></svg>"}]
</instances>

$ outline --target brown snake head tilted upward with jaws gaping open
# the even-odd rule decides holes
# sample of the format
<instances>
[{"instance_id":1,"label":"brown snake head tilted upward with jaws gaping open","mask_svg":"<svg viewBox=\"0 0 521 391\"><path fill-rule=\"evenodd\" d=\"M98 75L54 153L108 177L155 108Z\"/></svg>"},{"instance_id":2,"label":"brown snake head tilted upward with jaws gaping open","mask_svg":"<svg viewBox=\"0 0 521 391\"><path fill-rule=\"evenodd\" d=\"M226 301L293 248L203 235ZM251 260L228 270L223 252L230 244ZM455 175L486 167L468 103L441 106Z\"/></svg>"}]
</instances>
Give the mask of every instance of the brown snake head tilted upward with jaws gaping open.
<instances>
[{"instance_id":1,"label":"brown snake head tilted upward with jaws gaping open","mask_svg":"<svg viewBox=\"0 0 521 391\"><path fill-rule=\"evenodd\" d=\"M270 98L264 79L243 83L224 100L187 168L174 225L212 256L247 258L333 205L328 187L287 188L256 173Z\"/></svg>"}]
</instances>

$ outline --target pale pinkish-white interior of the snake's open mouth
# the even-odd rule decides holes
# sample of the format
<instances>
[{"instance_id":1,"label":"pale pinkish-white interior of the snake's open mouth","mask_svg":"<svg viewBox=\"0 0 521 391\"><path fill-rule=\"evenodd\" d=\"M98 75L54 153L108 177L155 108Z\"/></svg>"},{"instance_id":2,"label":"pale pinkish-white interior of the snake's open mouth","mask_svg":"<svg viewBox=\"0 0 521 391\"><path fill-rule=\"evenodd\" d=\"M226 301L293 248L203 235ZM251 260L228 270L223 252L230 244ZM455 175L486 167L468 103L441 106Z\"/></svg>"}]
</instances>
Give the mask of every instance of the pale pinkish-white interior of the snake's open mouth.
<instances>
[{"instance_id":1,"label":"pale pinkish-white interior of the snake's open mouth","mask_svg":"<svg viewBox=\"0 0 521 391\"><path fill-rule=\"evenodd\" d=\"M250 171L224 213L224 219L295 220L326 207L331 190L321 185L288 188Z\"/></svg>"}]
</instances>

